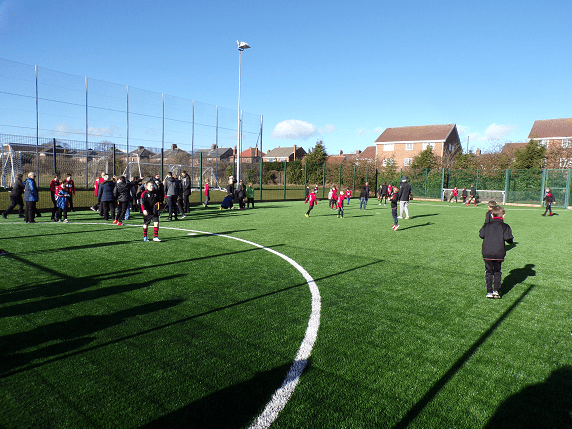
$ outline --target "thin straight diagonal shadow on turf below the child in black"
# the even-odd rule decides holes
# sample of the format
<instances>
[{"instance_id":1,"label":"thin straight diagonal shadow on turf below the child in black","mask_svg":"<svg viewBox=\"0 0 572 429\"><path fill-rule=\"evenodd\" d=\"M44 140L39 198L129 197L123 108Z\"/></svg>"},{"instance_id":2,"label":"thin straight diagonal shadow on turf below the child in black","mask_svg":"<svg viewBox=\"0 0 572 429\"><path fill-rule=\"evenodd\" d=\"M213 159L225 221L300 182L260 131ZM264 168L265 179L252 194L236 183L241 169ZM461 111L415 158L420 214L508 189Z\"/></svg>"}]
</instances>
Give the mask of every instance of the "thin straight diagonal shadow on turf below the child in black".
<instances>
[{"instance_id":1,"label":"thin straight diagonal shadow on turf below the child in black","mask_svg":"<svg viewBox=\"0 0 572 429\"><path fill-rule=\"evenodd\" d=\"M457 359L455 363L449 368L449 370L437 380L433 386L419 399L413 407L401 418L401 420L393 426L393 429L404 429L408 427L419 414L425 409L425 407L437 396L437 394L445 387L445 385L451 380L455 374L462 368L462 366L471 358L471 356L479 349L481 345L491 336L491 334L500 326L500 324L508 317L508 315L522 302L522 300L530 293L535 285L530 285L522 295L512 303L512 305L505 310L503 314L493 323L489 329L487 329L480 337L473 343L469 349L463 353L463 355Z\"/></svg>"}]
</instances>

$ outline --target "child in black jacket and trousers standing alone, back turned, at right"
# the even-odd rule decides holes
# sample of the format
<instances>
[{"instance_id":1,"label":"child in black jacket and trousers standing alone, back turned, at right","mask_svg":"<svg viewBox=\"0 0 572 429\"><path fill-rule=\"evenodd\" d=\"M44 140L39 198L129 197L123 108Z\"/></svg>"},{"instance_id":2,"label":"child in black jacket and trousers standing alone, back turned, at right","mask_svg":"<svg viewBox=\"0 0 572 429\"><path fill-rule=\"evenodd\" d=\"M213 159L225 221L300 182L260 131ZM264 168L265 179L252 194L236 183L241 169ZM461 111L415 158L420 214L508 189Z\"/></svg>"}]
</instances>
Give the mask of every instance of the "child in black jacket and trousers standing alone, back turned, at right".
<instances>
[{"instance_id":1,"label":"child in black jacket and trousers standing alone, back turned, at right","mask_svg":"<svg viewBox=\"0 0 572 429\"><path fill-rule=\"evenodd\" d=\"M513 242L512 230L504 223L505 210L502 206L491 209L492 219L485 223L479 231L479 237L483 239L483 260L485 261L485 284L487 286L487 298L500 298L502 271L501 264L506 256L505 241ZM494 286L493 286L494 280Z\"/></svg>"}]
</instances>

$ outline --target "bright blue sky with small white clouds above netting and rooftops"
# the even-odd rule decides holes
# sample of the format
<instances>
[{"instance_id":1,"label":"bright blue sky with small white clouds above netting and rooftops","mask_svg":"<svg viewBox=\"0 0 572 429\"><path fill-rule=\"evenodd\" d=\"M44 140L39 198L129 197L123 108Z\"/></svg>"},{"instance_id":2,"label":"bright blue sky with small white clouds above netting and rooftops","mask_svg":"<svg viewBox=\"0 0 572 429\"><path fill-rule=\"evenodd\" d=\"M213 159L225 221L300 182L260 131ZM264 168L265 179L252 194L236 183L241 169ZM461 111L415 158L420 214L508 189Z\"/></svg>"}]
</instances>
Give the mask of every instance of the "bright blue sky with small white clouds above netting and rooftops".
<instances>
[{"instance_id":1,"label":"bright blue sky with small white clouds above netting and rooftops","mask_svg":"<svg viewBox=\"0 0 572 429\"><path fill-rule=\"evenodd\" d=\"M0 58L236 110L239 39L264 151L449 123L487 150L572 117L571 16L570 0L4 0Z\"/></svg>"}]
</instances>

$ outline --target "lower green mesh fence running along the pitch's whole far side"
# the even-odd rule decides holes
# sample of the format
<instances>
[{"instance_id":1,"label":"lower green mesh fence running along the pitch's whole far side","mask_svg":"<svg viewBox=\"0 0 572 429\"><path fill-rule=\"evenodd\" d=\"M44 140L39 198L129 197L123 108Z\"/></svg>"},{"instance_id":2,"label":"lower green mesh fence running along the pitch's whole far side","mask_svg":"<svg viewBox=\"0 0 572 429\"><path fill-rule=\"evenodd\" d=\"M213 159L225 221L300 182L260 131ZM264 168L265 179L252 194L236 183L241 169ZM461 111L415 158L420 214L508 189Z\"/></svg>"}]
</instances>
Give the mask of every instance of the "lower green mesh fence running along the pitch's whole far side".
<instances>
[{"instance_id":1,"label":"lower green mesh fence running along the pitch's whole far side","mask_svg":"<svg viewBox=\"0 0 572 429\"><path fill-rule=\"evenodd\" d=\"M2 186L10 188L15 174L24 177L29 171L38 172L40 208L51 205L49 183L55 173L71 174L76 184L75 207L89 207L95 202L93 183L105 172L146 179L168 171L179 175L186 171L192 178L193 188L199 191L209 183L213 202L222 201L226 181L234 175L236 157L209 157L208 153L146 146L144 151L129 152L127 145L98 143L86 148L85 141L57 138L34 138L0 134L0 161ZM212 154L211 154L212 155ZM260 158L243 158L242 177L253 184L257 201L303 199L306 189L318 187L318 197L327 198L332 186L350 189L357 197L367 182L373 192L381 184L398 186L407 177L414 199L440 200L450 196L449 189L477 188L481 201L504 200L508 204L542 204L544 189L550 187L556 197L555 206L568 207L570 201L571 170L391 170L376 169L373 163L309 164L304 160L293 162L262 162ZM220 192L217 192L217 189ZM488 191L496 190L496 193ZM501 196L502 195L502 196ZM0 207L9 204L8 192L0 192ZM372 195L373 196L373 195ZM191 202L203 202L203 192L193 192Z\"/></svg>"}]
</instances>

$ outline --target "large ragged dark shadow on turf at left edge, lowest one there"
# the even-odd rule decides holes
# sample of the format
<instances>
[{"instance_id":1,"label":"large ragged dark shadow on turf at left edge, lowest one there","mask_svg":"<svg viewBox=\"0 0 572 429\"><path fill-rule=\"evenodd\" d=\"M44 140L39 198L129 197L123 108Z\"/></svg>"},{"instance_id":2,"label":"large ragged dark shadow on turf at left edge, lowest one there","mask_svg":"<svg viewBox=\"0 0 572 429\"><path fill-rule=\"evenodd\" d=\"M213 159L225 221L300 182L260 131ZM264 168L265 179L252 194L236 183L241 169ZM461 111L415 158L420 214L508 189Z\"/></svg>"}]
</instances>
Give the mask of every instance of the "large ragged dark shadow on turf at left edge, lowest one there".
<instances>
[{"instance_id":1,"label":"large ragged dark shadow on turf at left edge, lowest one there","mask_svg":"<svg viewBox=\"0 0 572 429\"><path fill-rule=\"evenodd\" d=\"M151 283L153 282L145 286ZM0 373L4 374L37 359L53 359L55 356L66 355L95 341L97 336L93 334L99 331L120 325L131 317L174 307L183 301L182 299L170 299L101 316L78 316L64 322L41 325L27 332L4 335L0 337ZM41 347L50 342L56 343ZM34 350L20 352L28 348L34 348Z\"/></svg>"}]
</instances>

